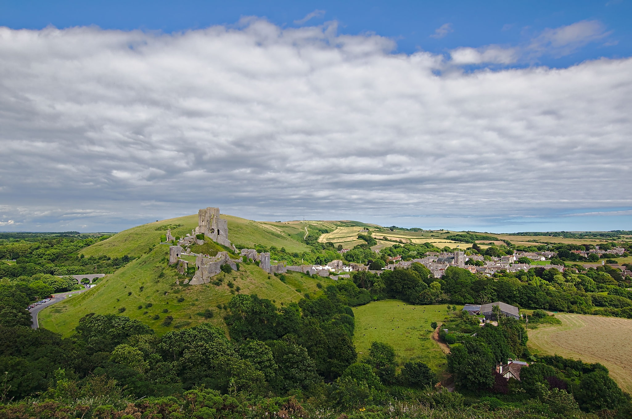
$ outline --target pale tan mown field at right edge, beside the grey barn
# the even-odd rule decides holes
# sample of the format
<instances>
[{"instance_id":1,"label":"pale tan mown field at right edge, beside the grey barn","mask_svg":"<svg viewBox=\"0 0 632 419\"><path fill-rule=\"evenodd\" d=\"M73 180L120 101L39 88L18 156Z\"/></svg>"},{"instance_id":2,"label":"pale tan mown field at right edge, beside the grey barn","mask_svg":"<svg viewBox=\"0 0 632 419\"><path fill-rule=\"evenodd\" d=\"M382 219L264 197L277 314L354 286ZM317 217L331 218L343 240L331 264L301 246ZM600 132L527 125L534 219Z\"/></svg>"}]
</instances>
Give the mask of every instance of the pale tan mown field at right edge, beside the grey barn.
<instances>
[{"instance_id":1,"label":"pale tan mown field at right edge, beside the grey barn","mask_svg":"<svg viewBox=\"0 0 632 419\"><path fill-rule=\"evenodd\" d=\"M559 326L529 331L533 352L599 362L624 391L632 392L632 319L557 314Z\"/></svg>"}]
</instances>

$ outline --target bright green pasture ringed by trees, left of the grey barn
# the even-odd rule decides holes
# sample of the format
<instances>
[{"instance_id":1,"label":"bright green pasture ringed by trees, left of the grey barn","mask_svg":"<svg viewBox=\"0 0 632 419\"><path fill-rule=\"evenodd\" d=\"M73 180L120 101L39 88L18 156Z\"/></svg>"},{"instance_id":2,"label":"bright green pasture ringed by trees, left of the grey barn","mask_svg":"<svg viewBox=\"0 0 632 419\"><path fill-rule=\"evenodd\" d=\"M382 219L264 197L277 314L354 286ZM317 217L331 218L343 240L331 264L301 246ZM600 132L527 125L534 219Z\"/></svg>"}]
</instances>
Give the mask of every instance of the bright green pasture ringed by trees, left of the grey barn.
<instances>
[{"instance_id":1,"label":"bright green pasture ringed by trees, left of the grey barn","mask_svg":"<svg viewBox=\"0 0 632 419\"><path fill-rule=\"evenodd\" d=\"M359 358L368 356L371 343L384 342L395 348L396 359L420 360L442 378L446 377L446 355L432 340L430 322L446 317L444 305L408 305L398 300L373 301L353 308L355 336Z\"/></svg>"}]
</instances>

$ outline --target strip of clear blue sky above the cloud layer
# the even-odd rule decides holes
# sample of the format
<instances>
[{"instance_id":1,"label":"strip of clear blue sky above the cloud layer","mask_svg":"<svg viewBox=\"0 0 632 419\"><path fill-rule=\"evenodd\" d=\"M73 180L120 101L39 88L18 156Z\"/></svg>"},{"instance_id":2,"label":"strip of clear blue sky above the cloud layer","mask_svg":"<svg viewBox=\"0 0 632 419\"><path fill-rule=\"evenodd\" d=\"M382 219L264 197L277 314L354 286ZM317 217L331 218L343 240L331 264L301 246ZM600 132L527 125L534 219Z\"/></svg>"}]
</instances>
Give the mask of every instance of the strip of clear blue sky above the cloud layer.
<instances>
[{"instance_id":1,"label":"strip of clear blue sky above the cloud layer","mask_svg":"<svg viewBox=\"0 0 632 419\"><path fill-rule=\"evenodd\" d=\"M608 33L569 54L530 63L566 67L585 59L632 55L632 1L45 1L0 3L0 25L41 29L97 25L104 29L177 32L234 25L258 16L280 27L339 23L339 33L375 32L397 50L437 54L456 47L518 46L547 28L599 21ZM445 26L447 25L447 26ZM443 27L443 29L441 29ZM439 32L435 32L439 30Z\"/></svg>"}]
</instances>

